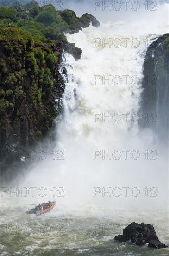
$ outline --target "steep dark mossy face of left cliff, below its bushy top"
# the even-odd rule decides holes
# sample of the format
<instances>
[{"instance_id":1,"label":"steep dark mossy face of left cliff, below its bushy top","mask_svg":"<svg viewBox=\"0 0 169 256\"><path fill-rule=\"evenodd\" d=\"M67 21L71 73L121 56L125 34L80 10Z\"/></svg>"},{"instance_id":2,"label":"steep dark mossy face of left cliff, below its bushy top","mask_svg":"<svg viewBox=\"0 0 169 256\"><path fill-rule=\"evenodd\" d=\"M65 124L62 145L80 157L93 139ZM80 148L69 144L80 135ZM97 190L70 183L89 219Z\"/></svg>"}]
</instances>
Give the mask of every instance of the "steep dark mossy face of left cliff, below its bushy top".
<instances>
[{"instance_id":1,"label":"steep dark mossy face of left cliff, below its bushy top","mask_svg":"<svg viewBox=\"0 0 169 256\"><path fill-rule=\"evenodd\" d=\"M15 168L21 163L20 152L34 149L49 133L57 115L55 99L63 93L57 70L63 43L30 39L19 29L0 29L1 171Z\"/></svg>"}]
</instances>

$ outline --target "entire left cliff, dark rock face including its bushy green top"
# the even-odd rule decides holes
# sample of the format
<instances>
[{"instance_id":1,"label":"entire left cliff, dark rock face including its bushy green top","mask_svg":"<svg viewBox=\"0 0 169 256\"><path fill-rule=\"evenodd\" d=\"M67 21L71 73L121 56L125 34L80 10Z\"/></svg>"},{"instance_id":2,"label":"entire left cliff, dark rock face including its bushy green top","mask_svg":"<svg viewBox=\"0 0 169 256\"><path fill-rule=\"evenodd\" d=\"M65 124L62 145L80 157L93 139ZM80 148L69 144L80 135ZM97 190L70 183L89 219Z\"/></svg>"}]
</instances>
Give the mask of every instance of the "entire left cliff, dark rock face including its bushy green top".
<instances>
[{"instance_id":1,"label":"entire left cliff, dark rock face including its bushy green top","mask_svg":"<svg viewBox=\"0 0 169 256\"><path fill-rule=\"evenodd\" d=\"M75 59L81 56L81 49L70 44L63 33L78 32L91 23L100 25L92 15L78 18L71 10L56 11L51 5L40 7L35 1L22 9L1 7L1 171L18 168L23 163L18 153L23 150L30 162L29 149L37 147L47 135L52 137L54 119L61 111L56 99L64 92L58 72L63 49Z\"/></svg>"}]
</instances>

